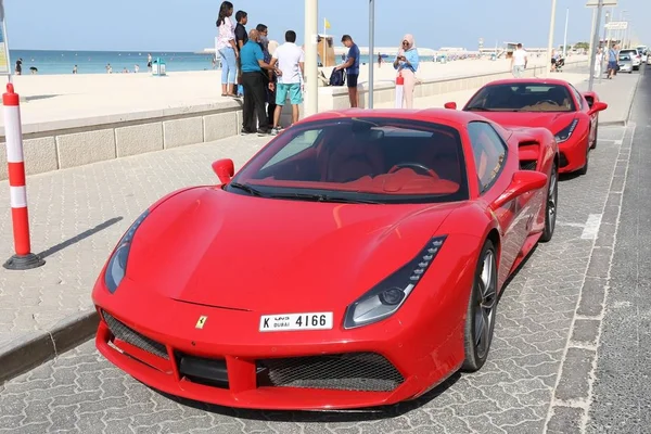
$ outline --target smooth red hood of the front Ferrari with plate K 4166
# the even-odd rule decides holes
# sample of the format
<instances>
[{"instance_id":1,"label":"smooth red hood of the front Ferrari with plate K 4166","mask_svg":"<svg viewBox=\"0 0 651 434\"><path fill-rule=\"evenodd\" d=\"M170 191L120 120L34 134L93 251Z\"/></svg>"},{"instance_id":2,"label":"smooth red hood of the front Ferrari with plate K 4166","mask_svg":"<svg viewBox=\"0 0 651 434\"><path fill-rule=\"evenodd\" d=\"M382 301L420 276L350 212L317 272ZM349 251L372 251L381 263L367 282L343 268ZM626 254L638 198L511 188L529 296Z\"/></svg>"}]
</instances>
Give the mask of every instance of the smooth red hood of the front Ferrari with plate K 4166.
<instances>
[{"instance_id":1,"label":"smooth red hood of the front Ferrari with plate K 4166","mask_svg":"<svg viewBox=\"0 0 651 434\"><path fill-rule=\"evenodd\" d=\"M209 306L341 308L413 258L457 206L281 201L193 189L148 216L126 278Z\"/></svg>"}]
</instances>

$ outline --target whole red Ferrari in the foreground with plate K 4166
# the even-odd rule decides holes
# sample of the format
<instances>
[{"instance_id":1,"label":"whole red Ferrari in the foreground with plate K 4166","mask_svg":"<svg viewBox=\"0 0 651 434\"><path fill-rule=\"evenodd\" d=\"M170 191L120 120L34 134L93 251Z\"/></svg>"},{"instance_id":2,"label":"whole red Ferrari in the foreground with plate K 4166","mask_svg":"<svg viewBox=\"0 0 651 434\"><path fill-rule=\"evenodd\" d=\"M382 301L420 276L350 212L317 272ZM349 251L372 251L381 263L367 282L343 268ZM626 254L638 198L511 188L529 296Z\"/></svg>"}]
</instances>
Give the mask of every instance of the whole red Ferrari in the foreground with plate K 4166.
<instances>
[{"instance_id":1,"label":"whole red Ferrari in the foreground with plate K 4166","mask_svg":"<svg viewBox=\"0 0 651 434\"><path fill-rule=\"evenodd\" d=\"M416 398L484 365L507 278L552 237L559 164L549 130L473 113L311 116L132 224L93 289L97 347L231 407Z\"/></svg>"}]
</instances>

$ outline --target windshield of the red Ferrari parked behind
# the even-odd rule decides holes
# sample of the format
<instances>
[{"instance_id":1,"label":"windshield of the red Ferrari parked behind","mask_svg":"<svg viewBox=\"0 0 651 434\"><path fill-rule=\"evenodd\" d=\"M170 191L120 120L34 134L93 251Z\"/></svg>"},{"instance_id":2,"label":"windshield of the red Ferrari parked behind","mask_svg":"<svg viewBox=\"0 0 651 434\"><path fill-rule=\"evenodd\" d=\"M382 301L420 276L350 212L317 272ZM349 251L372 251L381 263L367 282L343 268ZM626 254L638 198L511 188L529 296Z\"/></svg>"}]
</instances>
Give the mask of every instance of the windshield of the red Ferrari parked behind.
<instances>
[{"instance_id":1,"label":"windshield of the red Ferrari parked behind","mask_svg":"<svg viewBox=\"0 0 651 434\"><path fill-rule=\"evenodd\" d=\"M574 112L574 101L564 86L502 84L482 88L465 105L477 112Z\"/></svg>"}]
</instances>

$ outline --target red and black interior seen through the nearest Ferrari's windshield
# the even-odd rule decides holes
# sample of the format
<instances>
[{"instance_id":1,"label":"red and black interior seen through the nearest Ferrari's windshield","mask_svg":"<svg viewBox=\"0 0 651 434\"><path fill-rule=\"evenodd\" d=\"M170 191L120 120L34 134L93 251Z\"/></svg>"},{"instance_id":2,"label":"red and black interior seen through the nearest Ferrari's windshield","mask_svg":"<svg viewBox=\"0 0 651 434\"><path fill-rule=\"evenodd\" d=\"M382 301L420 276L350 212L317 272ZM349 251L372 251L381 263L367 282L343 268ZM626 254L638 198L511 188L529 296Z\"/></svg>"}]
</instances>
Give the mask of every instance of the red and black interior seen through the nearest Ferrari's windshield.
<instances>
[{"instance_id":1,"label":"red and black interior seen through the nearest Ferrari's windshield","mask_svg":"<svg viewBox=\"0 0 651 434\"><path fill-rule=\"evenodd\" d=\"M355 131L346 125L323 128L314 140L286 135L277 155L247 182L387 194L467 190L461 139L449 127L427 131L383 125ZM286 157L279 157L283 152Z\"/></svg>"}]
</instances>

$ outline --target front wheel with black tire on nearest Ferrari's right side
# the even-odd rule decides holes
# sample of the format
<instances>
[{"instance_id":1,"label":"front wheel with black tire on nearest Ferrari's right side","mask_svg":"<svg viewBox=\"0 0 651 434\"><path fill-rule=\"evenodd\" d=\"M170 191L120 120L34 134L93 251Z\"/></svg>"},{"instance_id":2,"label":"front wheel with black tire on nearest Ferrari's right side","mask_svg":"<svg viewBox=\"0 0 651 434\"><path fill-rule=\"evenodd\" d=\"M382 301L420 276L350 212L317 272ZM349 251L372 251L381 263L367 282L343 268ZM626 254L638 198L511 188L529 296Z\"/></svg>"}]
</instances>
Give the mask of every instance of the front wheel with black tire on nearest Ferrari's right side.
<instances>
[{"instance_id":1,"label":"front wheel with black tire on nearest Ferrari's right side","mask_svg":"<svg viewBox=\"0 0 651 434\"><path fill-rule=\"evenodd\" d=\"M484 273L484 265L487 264L490 272ZM488 286L484 282L488 283ZM490 350L493 331L497 308L497 255L490 240L484 242L477 266L474 282L468 299L465 315L465 327L463 332L463 345L465 348L465 360L461 369L468 372L480 370ZM483 327L477 322L482 321ZM477 334L480 335L477 337Z\"/></svg>"}]
</instances>

